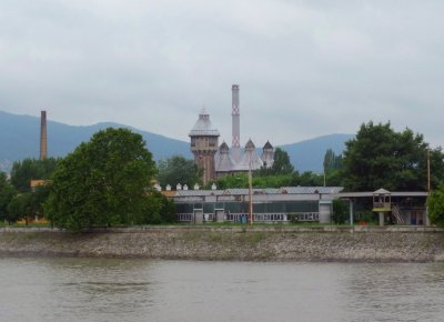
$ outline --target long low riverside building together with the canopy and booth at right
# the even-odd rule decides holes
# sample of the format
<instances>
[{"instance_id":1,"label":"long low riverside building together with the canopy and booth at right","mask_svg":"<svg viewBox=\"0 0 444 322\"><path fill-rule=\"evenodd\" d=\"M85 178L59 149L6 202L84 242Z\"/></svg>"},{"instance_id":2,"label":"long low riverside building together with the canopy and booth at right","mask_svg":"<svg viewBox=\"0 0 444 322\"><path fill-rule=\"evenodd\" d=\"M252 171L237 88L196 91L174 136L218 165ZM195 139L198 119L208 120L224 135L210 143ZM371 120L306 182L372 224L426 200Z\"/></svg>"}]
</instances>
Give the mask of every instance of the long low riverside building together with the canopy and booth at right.
<instances>
[{"instance_id":1,"label":"long low riverside building together with the canopy and booth at right","mask_svg":"<svg viewBox=\"0 0 444 322\"><path fill-rule=\"evenodd\" d=\"M249 189L165 191L174 201L180 222L245 222L250 205ZM426 192L343 192L342 187L283 187L252 189L254 222L331 223L333 200L350 202L350 221L360 220L355 204L369 204L379 215L380 225L428 224Z\"/></svg>"}]
</instances>

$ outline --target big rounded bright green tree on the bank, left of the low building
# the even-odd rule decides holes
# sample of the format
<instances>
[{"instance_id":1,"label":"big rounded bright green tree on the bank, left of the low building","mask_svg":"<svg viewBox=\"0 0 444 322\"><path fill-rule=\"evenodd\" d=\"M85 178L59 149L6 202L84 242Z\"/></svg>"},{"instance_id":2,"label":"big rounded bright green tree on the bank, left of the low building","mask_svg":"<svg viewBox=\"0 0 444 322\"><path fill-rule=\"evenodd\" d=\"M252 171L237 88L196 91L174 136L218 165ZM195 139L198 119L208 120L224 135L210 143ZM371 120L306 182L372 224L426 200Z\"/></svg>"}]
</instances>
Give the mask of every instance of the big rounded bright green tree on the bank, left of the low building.
<instances>
[{"instance_id":1,"label":"big rounded bright green tree on the bank, left of the low building","mask_svg":"<svg viewBox=\"0 0 444 322\"><path fill-rule=\"evenodd\" d=\"M129 223L147 207L155 173L140 134L107 129L59 162L46 213L71 231Z\"/></svg>"}]
</instances>

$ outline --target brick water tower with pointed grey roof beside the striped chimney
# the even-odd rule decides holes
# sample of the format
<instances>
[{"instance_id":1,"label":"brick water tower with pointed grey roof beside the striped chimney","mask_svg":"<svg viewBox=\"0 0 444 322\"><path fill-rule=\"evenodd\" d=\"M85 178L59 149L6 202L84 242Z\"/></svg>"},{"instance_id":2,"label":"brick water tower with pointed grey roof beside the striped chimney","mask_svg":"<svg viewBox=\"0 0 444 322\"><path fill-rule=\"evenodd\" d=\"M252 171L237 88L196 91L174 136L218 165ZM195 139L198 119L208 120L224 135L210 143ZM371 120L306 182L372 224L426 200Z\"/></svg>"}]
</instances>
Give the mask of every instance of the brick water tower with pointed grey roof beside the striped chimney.
<instances>
[{"instance_id":1,"label":"brick water tower with pointed grey roof beside the striped chimney","mask_svg":"<svg viewBox=\"0 0 444 322\"><path fill-rule=\"evenodd\" d=\"M214 154L219 148L219 131L211 125L210 114L202 109L189 137L194 162L203 169L202 182L204 184L215 178Z\"/></svg>"}]
</instances>

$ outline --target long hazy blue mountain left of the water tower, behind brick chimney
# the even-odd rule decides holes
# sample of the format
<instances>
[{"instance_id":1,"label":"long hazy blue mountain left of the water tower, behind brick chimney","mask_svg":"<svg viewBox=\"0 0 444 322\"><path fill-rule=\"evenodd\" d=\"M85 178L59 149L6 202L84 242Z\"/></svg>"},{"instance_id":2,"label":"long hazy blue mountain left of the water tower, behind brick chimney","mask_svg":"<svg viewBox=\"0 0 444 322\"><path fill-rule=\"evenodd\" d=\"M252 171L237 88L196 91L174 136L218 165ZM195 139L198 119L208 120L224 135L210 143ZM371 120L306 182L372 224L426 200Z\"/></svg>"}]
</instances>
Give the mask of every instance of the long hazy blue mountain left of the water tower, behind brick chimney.
<instances>
[{"instance_id":1,"label":"long hazy blue mountain left of the water tower, behind brick chimney","mask_svg":"<svg viewBox=\"0 0 444 322\"><path fill-rule=\"evenodd\" d=\"M127 128L140 133L147 142L147 148L155 160L173 154L192 158L190 143L141 131L118 123L98 123L88 127L73 127L48 121L48 155L64 157L72 152L81 142L90 140L91 135L107 128ZM40 155L40 118L16 115L0 111L0 170L9 170L12 162Z\"/></svg>"}]
</instances>

